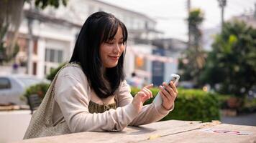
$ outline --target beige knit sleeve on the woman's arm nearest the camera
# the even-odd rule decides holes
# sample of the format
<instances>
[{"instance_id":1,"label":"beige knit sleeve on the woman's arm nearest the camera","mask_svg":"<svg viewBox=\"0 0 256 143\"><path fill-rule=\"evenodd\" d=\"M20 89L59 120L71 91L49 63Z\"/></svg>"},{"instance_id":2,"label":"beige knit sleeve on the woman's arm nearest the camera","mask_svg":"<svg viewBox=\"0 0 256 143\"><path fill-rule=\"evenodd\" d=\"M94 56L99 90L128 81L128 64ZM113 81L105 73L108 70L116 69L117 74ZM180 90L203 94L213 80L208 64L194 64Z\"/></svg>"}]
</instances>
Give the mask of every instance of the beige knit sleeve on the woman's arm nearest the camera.
<instances>
[{"instance_id":1,"label":"beige knit sleeve on the woman's arm nearest the camera","mask_svg":"<svg viewBox=\"0 0 256 143\"><path fill-rule=\"evenodd\" d=\"M55 83L55 101L71 132L122 130L137 117L132 103L104 113L89 113L88 81L78 67L66 67Z\"/></svg>"}]
</instances>

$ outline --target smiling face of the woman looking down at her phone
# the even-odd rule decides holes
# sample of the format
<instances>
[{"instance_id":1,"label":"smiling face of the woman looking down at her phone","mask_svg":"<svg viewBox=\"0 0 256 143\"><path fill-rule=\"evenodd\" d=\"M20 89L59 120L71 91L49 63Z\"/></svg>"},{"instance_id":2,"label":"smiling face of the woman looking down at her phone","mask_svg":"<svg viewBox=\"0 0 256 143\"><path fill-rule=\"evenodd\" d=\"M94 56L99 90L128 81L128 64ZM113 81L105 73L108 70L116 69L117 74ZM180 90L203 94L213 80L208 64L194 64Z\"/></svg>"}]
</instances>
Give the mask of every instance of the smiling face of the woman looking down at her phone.
<instances>
[{"instance_id":1,"label":"smiling face of the woman looking down at her phone","mask_svg":"<svg viewBox=\"0 0 256 143\"><path fill-rule=\"evenodd\" d=\"M111 41L106 41L101 44L99 48L99 54L101 62L105 68L111 68L118 64L119 57L124 51L123 44L123 32L122 28L119 28L116 31L114 39Z\"/></svg>"}]
</instances>

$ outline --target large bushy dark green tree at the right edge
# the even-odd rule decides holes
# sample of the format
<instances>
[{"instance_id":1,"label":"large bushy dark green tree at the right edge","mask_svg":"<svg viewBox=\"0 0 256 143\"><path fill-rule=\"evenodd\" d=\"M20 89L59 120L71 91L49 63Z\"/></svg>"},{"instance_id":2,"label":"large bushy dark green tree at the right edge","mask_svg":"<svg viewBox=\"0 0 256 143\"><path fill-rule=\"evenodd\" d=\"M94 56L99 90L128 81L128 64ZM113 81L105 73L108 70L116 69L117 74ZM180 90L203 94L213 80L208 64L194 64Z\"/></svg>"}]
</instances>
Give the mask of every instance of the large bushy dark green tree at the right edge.
<instances>
[{"instance_id":1,"label":"large bushy dark green tree at the right edge","mask_svg":"<svg viewBox=\"0 0 256 143\"><path fill-rule=\"evenodd\" d=\"M209 52L201 82L221 94L244 96L256 84L256 29L242 21L224 24ZM219 85L219 86L216 86Z\"/></svg>"}]
</instances>

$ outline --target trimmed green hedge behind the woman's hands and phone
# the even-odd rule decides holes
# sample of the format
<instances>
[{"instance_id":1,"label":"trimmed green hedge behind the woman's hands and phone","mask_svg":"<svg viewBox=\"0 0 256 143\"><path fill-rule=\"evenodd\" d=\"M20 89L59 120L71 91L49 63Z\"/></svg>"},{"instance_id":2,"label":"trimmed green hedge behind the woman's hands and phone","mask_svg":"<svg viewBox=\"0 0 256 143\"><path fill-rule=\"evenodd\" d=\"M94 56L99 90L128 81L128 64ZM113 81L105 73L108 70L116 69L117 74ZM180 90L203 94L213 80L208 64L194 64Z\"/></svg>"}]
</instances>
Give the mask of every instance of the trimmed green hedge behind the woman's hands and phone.
<instances>
[{"instance_id":1,"label":"trimmed green hedge behind the woman's hands and phone","mask_svg":"<svg viewBox=\"0 0 256 143\"><path fill-rule=\"evenodd\" d=\"M156 96L159 89L150 89ZM134 96L139 89L132 88ZM175 100L175 108L162 120L179 119L187 121L211 122L219 119L219 101L216 94L196 89L178 89L178 98ZM145 104L152 103L149 99Z\"/></svg>"}]
</instances>

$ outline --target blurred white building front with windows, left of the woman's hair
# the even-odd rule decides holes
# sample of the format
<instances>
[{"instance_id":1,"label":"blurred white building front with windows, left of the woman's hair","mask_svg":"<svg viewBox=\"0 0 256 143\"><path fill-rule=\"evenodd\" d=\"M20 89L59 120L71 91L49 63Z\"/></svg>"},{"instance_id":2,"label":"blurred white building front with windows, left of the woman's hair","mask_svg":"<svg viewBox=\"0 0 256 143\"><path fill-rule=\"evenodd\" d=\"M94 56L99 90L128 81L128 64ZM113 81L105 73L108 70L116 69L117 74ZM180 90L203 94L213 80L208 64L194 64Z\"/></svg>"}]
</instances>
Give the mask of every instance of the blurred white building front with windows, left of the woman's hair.
<instances>
[{"instance_id":1,"label":"blurred white building front with windows, left of the woman's hair","mask_svg":"<svg viewBox=\"0 0 256 143\"><path fill-rule=\"evenodd\" d=\"M32 41L29 41L29 22L31 22ZM19 28L17 61L25 63L28 59L29 46L32 46L32 66L28 73L44 77L50 69L68 61L80 28L80 25L65 19L42 14L35 9L25 9L24 19ZM29 42L32 43L29 45Z\"/></svg>"}]
</instances>

